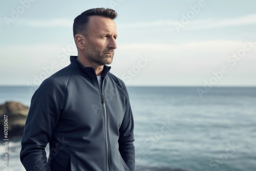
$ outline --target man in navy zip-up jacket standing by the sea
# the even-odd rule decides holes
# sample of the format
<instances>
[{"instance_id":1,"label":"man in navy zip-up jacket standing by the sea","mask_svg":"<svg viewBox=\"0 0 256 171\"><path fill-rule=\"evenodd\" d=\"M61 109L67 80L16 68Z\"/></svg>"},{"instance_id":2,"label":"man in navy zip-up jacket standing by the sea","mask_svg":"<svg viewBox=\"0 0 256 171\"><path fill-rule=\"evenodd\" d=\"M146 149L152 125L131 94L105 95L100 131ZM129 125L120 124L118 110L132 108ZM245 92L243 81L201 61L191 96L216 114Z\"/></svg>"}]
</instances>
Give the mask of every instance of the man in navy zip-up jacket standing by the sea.
<instances>
[{"instance_id":1,"label":"man in navy zip-up jacket standing by the sea","mask_svg":"<svg viewBox=\"0 0 256 171\"><path fill-rule=\"evenodd\" d=\"M20 152L26 170L135 169L129 96L105 66L117 48L116 16L97 8L75 18L78 56L42 82L31 100Z\"/></svg>"}]
</instances>

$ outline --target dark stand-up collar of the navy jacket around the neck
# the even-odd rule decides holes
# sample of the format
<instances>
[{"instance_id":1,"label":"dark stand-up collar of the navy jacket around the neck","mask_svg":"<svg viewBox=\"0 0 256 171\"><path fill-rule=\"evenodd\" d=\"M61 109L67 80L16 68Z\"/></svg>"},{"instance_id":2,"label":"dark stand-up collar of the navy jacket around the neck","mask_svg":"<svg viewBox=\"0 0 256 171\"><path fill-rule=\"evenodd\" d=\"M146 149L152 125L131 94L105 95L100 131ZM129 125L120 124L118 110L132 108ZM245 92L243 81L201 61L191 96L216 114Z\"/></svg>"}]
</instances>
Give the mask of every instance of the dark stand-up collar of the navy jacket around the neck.
<instances>
[{"instance_id":1,"label":"dark stand-up collar of the navy jacket around the neck","mask_svg":"<svg viewBox=\"0 0 256 171\"><path fill-rule=\"evenodd\" d=\"M70 61L71 63L69 66L72 67L72 69L75 70L76 72L82 75L90 76L90 77L96 76L95 70L92 67L84 67L77 60L77 56L70 56ZM101 77L104 78L110 72L110 69L111 67L104 65L103 71L101 73Z\"/></svg>"}]
</instances>

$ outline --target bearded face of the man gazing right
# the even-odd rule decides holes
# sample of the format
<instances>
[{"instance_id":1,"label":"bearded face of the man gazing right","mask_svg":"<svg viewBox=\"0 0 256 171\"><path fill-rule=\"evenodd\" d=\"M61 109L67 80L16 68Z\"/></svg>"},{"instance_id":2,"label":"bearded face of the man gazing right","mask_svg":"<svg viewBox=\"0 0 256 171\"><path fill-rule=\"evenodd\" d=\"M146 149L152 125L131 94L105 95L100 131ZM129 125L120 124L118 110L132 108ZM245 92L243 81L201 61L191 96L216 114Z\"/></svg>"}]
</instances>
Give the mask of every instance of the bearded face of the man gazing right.
<instances>
[{"instance_id":1,"label":"bearded face of the man gazing right","mask_svg":"<svg viewBox=\"0 0 256 171\"><path fill-rule=\"evenodd\" d=\"M112 63L117 48L116 38L116 24L113 19L91 16L84 49L86 58L99 66Z\"/></svg>"}]
</instances>

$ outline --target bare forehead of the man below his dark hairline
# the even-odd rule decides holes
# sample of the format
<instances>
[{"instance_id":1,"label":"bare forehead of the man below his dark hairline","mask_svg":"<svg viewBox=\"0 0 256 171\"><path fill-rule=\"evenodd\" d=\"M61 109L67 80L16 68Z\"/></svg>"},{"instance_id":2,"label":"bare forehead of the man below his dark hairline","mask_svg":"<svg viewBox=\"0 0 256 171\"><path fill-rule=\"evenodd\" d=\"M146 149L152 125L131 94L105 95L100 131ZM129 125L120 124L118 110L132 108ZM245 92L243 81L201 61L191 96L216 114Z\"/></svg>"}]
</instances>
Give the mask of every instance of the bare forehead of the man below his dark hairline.
<instances>
[{"instance_id":1,"label":"bare forehead of the man below his dark hairline","mask_svg":"<svg viewBox=\"0 0 256 171\"><path fill-rule=\"evenodd\" d=\"M90 32L112 32L116 33L116 23L113 19L102 16L91 16L89 18Z\"/></svg>"}]
</instances>

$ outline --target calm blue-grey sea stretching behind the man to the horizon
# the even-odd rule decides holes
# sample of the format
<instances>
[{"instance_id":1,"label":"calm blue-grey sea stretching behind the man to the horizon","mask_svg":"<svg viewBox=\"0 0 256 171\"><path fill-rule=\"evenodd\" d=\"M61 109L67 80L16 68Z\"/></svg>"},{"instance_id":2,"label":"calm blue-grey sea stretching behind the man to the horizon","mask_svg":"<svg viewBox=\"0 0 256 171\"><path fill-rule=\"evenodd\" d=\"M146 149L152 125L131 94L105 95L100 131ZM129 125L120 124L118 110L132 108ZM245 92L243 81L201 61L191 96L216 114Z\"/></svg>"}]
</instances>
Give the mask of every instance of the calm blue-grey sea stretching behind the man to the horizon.
<instances>
[{"instance_id":1,"label":"calm blue-grey sea stretching behind the man to the horizon","mask_svg":"<svg viewBox=\"0 0 256 171\"><path fill-rule=\"evenodd\" d=\"M136 170L256 170L256 87L127 90L135 121ZM26 86L2 86L0 104L29 106L32 95ZM8 145L8 167L0 145L0 170L25 170L19 160L20 139Z\"/></svg>"}]
</instances>

